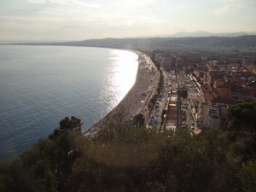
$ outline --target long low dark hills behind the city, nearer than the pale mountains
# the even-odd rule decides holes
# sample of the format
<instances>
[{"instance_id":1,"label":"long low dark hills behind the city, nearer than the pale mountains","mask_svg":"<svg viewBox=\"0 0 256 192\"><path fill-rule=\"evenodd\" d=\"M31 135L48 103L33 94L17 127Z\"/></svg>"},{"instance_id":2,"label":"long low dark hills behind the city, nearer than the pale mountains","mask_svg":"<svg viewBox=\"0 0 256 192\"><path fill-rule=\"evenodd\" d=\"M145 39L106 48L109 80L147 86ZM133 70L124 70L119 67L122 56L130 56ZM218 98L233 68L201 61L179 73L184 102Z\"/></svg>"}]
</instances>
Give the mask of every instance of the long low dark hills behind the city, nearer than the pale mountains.
<instances>
[{"instance_id":1,"label":"long low dark hills behind the city, nearer than the pale mountains","mask_svg":"<svg viewBox=\"0 0 256 192\"><path fill-rule=\"evenodd\" d=\"M35 44L34 44L35 45ZM239 37L187 37L187 38L102 38L39 45L85 46L113 49L211 49L256 51L256 35Z\"/></svg>"}]
</instances>

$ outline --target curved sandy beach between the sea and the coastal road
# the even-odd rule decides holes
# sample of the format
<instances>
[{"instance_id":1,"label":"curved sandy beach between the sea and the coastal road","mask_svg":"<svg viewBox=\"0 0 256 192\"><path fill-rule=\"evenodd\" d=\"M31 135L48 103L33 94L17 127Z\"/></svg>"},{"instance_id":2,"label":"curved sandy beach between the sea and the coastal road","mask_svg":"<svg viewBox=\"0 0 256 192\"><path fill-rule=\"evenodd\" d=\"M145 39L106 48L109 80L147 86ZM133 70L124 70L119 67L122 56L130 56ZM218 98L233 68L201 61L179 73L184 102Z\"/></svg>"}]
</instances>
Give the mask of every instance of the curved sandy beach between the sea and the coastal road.
<instances>
[{"instance_id":1,"label":"curved sandy beach between the sea and the coastal road","mask_svg":"<svg viewBox=\"0 0 256 192\"><path fill-rule=\"evenodd\" d=\"M155 70L156 67L154 67L153 62L149 62L150 59L145 58L148 57L147 55L135 53L138 55L135 83L115 108L83 132L84 136L96 135L97 131L102 129L108 123L108 120L116 115L121 115L125 119L131 119L138 113L143 113L145 119L148 118L148 108L146 106L149 98L153 95L152 93L156 90L155 84L159 80L159 72ZM123 119L118 120L122 121Z\"/></svg>"}]
</instances>

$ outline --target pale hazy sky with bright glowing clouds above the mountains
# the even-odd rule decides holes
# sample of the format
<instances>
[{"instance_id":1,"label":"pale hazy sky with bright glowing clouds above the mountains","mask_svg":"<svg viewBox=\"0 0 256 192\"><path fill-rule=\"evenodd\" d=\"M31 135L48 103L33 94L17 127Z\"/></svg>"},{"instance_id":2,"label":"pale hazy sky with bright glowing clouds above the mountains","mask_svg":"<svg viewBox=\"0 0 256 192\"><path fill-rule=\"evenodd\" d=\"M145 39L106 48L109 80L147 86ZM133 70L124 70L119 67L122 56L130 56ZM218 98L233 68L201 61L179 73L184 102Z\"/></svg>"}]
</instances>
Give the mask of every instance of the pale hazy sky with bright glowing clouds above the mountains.
<instances>
[{"instance_id":1,"label":"pale hazy sky with bright glowing clouds above the mountains","mask_svg":"<svg viewBox=\"0 0 256 192\"><path fill-rule=\"evenodd\" d=\"M256 32L256 0L0 0L0 42Z\"/></svg>"}]
</instances>

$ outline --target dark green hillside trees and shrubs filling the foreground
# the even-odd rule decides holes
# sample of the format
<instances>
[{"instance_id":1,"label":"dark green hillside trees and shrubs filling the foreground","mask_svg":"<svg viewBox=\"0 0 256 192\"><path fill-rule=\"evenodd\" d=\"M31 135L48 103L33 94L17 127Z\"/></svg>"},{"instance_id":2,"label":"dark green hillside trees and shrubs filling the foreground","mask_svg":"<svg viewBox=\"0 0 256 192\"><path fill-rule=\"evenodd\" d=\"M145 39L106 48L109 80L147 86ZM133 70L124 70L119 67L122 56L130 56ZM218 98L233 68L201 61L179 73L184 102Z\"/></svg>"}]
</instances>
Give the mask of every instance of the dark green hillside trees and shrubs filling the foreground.
<instances>
[{"instance_id":1,"label":"dark green hillside trees and shrubs filling the foreground","mask_svg":"<svg viewBox=\"0 0 256 192\"><path fill-rule=\"evenodd\" d=\"M194 137L147 130L141 115L115 119L93 138L80 119L62 119L0 164L0 191L255 191L256 102L231 106L228 125Z\"/></svg>"}]
</instances>

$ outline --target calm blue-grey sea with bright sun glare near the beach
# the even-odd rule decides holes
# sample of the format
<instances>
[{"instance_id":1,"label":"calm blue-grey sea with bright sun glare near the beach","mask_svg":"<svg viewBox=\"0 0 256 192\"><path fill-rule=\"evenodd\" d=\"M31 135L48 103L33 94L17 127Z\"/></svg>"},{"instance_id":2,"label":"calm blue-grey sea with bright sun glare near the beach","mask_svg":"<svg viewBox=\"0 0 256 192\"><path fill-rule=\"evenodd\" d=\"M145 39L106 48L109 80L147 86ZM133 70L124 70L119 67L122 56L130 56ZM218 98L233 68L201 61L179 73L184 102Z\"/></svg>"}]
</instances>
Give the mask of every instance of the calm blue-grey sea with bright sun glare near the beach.
<instances>
[{"instance_id":1,"label":"calm blue-grey sea with bright sun glare near the beach","mask_svg":"<svg viewBox=\"0 0 256 192\"><path fill-rule=\"evenodd\" d=\"M137 55L118 49L0 46L0 160L12 158L66 116L83 130L134 84Z\"/></svg>"}]
</instances>

